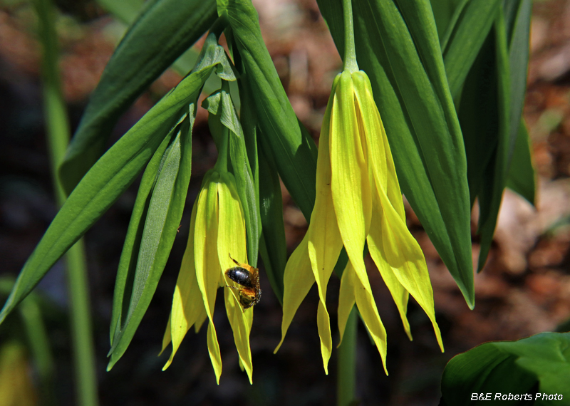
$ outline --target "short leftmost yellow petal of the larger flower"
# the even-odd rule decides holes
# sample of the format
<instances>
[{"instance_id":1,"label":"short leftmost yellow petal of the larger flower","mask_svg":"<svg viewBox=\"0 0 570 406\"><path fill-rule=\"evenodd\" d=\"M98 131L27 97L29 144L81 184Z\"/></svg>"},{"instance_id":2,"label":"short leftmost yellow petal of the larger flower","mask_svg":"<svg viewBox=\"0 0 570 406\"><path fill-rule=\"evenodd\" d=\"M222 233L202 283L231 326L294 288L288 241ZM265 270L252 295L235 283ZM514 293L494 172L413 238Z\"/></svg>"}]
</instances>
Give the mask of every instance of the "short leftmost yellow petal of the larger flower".
<instances>
[{"instance_id":1,"label":"short leftmost yellow petal of the larger flower","mask_svg":"<svg viewBox=\"0 0 570 406\"><path fill-rule=\"evenodd\" d=\"M281 341L274 350L274 353L279 350L289 325L293 320L293 316L299 305L309 293L309 289L315 283L315 276L311 269L311 261L309 261L309 251L307 248L309 238L305 234L301 244L297 246L293 254L289 257L289 261L285 266L283 275L283 319L281 320Z\"/></svg>"}]
</instances>

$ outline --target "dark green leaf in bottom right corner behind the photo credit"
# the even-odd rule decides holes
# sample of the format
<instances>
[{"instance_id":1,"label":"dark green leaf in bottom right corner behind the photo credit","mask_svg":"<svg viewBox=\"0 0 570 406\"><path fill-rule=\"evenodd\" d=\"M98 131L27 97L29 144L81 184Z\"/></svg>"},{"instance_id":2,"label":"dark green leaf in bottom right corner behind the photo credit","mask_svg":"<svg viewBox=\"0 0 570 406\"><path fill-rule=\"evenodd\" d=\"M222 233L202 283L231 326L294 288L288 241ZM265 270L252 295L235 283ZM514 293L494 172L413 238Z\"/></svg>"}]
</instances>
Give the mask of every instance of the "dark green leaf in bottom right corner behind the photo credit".
<instances>
[{"instance_id":1,"label":"dark green leaf in bottom right corner behind the photo credit","mask_svg":"<svg viewBox=\"0 0 570 406\"><path fill-rule=\"evenodd\" d=\"M566 405L570 398L570 333L541 333L517 341L484 343L456 355L443 371L440 405L472 405L472 394L529 394L534 402ZM539 397L537 397L539 394ZM543 394L561 395L561 400ZM497 399L492 404L503 404Z\"/></svg>"}]
</instances>

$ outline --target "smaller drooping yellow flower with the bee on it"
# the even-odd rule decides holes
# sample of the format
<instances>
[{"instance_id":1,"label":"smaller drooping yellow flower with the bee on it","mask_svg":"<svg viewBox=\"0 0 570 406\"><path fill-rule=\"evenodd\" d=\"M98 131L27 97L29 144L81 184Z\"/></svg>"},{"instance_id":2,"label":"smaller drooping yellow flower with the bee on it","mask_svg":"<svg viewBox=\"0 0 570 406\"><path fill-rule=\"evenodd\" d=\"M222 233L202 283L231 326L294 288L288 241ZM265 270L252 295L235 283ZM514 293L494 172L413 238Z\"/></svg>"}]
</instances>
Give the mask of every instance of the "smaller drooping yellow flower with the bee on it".
<instances>
[{"instance_id":1,"label":"smaller drooping yellow flower with the bee on it","mask_svg":"<svg viewBox=\"0 0 570 406\"><path fill-rule=\"evenodd\" d=\"M214 303L218 288L237 286L225 275L234 265L230 258L247 264L244 212L234 175L215 168L204 176L202 190L192 209L190 236L172 298L172 311L162 340L162 350L172 342L172 354L163 370L192 326L199 330L208 319L207 344L216 380L222 374L222 358L214 327ZM236 289L224 288L227 318L234 332L240 368L252 382L252 352L249 333L253 308L242 311Z\"/></svg>"}]
</instances>

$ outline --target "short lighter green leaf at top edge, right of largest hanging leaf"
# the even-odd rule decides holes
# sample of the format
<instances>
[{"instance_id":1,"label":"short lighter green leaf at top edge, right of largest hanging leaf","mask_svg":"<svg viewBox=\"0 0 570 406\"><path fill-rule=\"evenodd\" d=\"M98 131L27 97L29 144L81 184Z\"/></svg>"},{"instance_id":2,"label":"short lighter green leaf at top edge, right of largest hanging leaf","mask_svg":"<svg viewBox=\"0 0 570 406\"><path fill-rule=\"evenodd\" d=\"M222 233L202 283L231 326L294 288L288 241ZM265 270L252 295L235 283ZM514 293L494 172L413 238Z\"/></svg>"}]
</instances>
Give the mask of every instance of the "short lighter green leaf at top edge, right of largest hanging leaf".
<instances>
[{"instance_id":1,"label":"short lighter green leaf at top edge, right of largest hanging leaf","mask_svg":"<svg viewBox=\"0 0 570 406\"><path fill-rule=\"evenodd\" d=\"M458 8L457 22L447 27L442 53L454 100L487 38L500 4L500 0L469 1L462 9Z\"/></svg>"}]
</instances>

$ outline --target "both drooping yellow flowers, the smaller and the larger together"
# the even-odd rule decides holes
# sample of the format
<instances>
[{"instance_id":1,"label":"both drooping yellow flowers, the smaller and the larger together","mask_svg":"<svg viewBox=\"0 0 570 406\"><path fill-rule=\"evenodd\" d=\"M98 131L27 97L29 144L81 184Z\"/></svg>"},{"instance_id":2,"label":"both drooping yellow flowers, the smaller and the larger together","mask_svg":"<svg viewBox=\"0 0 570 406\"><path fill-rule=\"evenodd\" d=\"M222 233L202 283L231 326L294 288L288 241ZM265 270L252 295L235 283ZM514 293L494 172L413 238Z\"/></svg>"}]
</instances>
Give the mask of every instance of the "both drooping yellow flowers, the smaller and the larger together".
<instances>
[{"instance_id":1,"label":"both drooping yellow flowers, the smaller and the larger together","mask_svg":"<svg viewBox=\"0 0 570 406\"><path fill-rule=\"evenodd\" d=\"M247 262L245 225L234 184L232 175L227 173L210 172L204 178L202 192L192 211L190 238L163 341L165 348L172 340L167 368L187 330L192 325L198 329L208 318L208 350L218 381L222 362L212 323L216 291L218 287L236 286L224 274L225 269L233 266L229 254L240 262ZM365 242L398 306L408 336L411 338L405 315L411 293L432 321L437 341L443 348L435 322L427 266L418 242L405 224L400 185L370 81L362 71L343 71L334 80L321 128L316 202L309 230L285 269L281 324L283 343L297 308L316 282L318 334L326 371L332 351L326 286L343 246L349 261L338 299L341 340L348 315L356 303L385 369L386 333L363 261ZM242 311L235 289L224 289L224 296L239 363L251 382L249 332L253 309Z\"/></svg>"}]
</instances>

